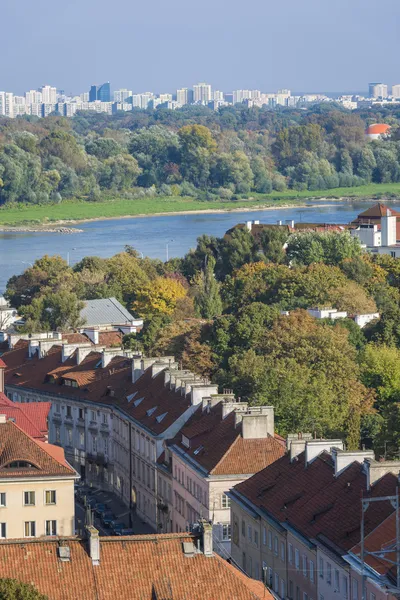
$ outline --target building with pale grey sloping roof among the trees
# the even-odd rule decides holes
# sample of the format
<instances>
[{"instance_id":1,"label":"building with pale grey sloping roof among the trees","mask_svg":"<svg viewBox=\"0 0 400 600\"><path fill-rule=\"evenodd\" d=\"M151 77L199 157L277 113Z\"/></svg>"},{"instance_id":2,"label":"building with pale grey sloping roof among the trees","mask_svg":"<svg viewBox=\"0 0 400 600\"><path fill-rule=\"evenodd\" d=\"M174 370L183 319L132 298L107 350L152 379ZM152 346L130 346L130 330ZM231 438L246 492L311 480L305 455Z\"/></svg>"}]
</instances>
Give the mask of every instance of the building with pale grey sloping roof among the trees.
<instances>
[{"instance_id":1,"label":"building with pale grey sloping roof among the trees","mask_svg":"<svg viewBox=\"0 0 400 600\"><path fill-rule=\"evenodd\" d=\"M135 319L116 298L84 300L84 304L80 312L85 324L82 331L90 327L104 329L120 325L123 333L136 333L143 327L143 320Z\"/></svg>"}]
</instances>

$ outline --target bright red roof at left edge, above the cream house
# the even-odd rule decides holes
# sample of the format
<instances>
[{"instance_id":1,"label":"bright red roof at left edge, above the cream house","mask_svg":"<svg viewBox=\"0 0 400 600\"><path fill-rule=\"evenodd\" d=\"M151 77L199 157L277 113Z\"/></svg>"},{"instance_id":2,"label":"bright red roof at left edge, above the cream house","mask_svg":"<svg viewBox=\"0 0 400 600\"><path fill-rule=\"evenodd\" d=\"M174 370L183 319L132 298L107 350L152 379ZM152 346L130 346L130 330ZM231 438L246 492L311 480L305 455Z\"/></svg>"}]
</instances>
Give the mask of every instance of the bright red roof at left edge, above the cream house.
<instances>
[{"instance_id":1,"label":"bright red roof at left edge, above the cream house","mask_svg":"<svg viewBox=\"0 0 400 600\"><path fill-rule=\"evenodd\" d=\"M12 402L0 393L0 414L13 419L17 425L37 440L45 441L48 433L47 418L50 402Z\"/></svg>"}]
</instances>

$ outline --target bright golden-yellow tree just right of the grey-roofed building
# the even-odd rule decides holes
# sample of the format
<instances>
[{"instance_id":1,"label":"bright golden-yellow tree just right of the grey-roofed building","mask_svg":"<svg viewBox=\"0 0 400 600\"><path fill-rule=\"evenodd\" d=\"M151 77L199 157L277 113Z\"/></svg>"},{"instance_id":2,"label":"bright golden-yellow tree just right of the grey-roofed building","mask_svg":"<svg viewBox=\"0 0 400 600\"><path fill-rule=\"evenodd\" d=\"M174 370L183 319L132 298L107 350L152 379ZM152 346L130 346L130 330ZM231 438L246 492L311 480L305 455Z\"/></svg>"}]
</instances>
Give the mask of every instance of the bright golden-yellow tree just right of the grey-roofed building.
<instances>
[{"instance_id":1,"label":"bright golden-yellow tree just right of the grey-roofed building","mask_svg":"<svg viewBox=\"0 0 400 600\"><path fill-rule=\"evenodd\" d=\"M178 301L186 294L187 291L179 281L156 277L143 286L132 308L143 318L155 315L169 316L175 311Z\"/></svg>"}]
</instances>

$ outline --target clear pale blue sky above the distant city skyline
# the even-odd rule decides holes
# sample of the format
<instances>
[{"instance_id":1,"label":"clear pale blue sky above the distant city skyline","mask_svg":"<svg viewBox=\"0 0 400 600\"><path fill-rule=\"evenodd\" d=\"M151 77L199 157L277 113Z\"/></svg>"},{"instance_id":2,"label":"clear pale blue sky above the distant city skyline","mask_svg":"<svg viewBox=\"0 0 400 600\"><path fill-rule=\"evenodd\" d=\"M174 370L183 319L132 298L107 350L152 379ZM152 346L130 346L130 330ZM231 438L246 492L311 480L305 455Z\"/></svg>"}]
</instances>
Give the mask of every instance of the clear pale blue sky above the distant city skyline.
<instances>
[{"instance_id":1,"label":"clear pale blue sky above the distant city skyline","mask_svg":"<svg viewBox=\"0 0 400 600\"><path fill-rule=\"evenodd\" d=\"M0 0L0 90L400 83L399 0Z\"/></svg>"}]
</instances>

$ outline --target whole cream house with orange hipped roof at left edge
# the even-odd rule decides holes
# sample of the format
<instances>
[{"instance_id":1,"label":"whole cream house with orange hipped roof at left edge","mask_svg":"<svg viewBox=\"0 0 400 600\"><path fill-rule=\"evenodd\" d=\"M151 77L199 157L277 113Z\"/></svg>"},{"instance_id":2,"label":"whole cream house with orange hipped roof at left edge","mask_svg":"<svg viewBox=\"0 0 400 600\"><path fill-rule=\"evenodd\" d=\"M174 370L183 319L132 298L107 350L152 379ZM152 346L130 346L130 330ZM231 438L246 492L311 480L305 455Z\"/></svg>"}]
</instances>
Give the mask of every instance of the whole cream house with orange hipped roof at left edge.
<instances>
[{"instance_id":1,"label":"whole cream house with orange hipped roof at left edge","mask_svg":"<svg viewBox=\"0 0 400 600\"><path fill-rule=\"evenodd\" d=\"M33 439L0 408L0 538L73 535L78 478L62 448Z\"/></svg>"}]
</instances>

